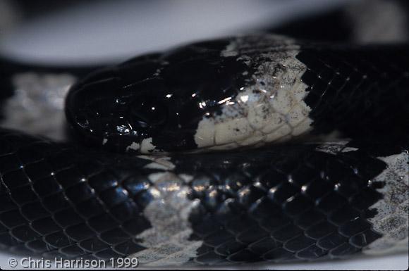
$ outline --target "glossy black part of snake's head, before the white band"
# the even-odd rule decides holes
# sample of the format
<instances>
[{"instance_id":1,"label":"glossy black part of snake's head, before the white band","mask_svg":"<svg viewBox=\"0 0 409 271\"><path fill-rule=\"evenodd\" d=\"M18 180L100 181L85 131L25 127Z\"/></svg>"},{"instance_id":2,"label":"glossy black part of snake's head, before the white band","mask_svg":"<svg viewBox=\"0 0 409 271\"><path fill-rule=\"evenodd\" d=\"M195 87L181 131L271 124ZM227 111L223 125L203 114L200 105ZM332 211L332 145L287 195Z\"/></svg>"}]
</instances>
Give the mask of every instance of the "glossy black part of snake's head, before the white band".
<instances>
[{"instance_id":1,"label":"glossy black part of snake's head, before the white band","mask_svg":"<svg viewBox=\"0 0 409 271\"><path fill-rule=\"evenodd\" d=\"M74 134L121 152L197 149L198 122L220 109L212 96L236 92L231 67L221 67L212 50L198 51L189 46L140 56L75 84L66 99Z\"/></svg>"}]
</instances>

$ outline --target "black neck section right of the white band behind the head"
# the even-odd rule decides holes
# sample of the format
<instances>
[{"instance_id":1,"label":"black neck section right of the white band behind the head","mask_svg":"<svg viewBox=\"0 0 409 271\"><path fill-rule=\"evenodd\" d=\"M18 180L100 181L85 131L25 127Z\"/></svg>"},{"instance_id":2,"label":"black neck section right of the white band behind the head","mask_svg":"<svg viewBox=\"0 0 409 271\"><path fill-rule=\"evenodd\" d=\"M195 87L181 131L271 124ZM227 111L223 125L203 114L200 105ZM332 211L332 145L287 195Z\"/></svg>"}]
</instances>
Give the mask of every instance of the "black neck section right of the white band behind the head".
<instances>
[{"instance_id":1,"label":"black neck section right of the white band behind the head","mask_svg":"<svg viewBox=\"0 0 409 271\"><path fill-rule=\"evenodd\" d=\"M302 49L302 80L314 132L348 137L403 138L409 133L409 56L406 46Z\"/></svg>"}]
</instances>

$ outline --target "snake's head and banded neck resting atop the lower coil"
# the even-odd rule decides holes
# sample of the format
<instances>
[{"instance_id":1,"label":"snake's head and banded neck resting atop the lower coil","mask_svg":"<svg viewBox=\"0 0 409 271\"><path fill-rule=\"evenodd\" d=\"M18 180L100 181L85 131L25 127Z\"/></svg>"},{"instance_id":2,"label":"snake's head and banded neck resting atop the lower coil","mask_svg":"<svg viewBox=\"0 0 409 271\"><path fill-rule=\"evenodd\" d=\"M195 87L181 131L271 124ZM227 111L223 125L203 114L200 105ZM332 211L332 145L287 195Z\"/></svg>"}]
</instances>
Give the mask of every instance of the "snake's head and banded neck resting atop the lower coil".
<instances>
[{"instance_id":1,"label":"snake's head and banded neck resting atop the lower coil","mask_svg":"<svg viewBox=\"0 0 409 271\"><path fill-rule=\"evenodd\" d=\"M405 143L408 51L271 34L200 42L93 73L71 89L66 113L81 141L118 152L257 147L334 131Z\"/></svg>"}]
</instances>

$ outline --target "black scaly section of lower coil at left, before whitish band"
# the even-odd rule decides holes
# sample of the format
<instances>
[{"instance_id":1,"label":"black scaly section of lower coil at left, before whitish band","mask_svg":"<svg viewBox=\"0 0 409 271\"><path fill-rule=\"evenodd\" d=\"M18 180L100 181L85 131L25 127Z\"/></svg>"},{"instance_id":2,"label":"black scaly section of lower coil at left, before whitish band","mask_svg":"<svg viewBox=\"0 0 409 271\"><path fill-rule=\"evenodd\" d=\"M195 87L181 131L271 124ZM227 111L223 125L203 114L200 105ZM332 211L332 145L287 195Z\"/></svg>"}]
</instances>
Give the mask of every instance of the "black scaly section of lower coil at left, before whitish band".
<instances>
[{"instance_id":1,"label":"black scaly section of lower coil at left, before whitish band","mask_svg":"<svg viewBox=\"0 0 409 271\"><path fill-rule=\"evenodd\" d=\"M126 176L75 150L1 131L0 244L51 257L122 257L150 227ZM141 163L140 166L144 165Z\"/></svg>"}]
</instances>

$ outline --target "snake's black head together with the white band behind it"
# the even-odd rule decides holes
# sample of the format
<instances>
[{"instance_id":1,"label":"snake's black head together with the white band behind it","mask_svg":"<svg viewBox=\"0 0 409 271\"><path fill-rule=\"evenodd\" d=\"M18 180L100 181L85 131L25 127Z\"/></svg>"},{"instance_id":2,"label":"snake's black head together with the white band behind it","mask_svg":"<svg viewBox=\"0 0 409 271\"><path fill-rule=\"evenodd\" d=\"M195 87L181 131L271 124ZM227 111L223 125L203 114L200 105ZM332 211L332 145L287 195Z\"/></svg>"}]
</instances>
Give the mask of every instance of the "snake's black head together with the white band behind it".
<instances>
[{"instance_id":1,"label":"snake's black head together with the white band behind it","mask_svg":"<svg viewBox=\"0 0 409 271\"><path fill-rule=\"evenodd\" d=\"M277 51L245 51L249 42L250 49L277 44ZM71 89L68 121L80 138L121 152L231 149L262 141L285 124L279 106L271 104L295 80L283 89L272 78L291 74L279 61L288 63L292 56L281 53L287 45L276 37L244 43L200 42L99 70ZM288 106L297 110L297 121L304 115L295 99L302 98L298 94ZM282 131L272 138L291 129Z\"/></svg>"}]
</instances>

